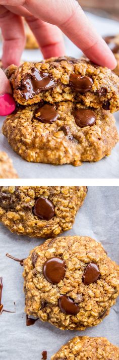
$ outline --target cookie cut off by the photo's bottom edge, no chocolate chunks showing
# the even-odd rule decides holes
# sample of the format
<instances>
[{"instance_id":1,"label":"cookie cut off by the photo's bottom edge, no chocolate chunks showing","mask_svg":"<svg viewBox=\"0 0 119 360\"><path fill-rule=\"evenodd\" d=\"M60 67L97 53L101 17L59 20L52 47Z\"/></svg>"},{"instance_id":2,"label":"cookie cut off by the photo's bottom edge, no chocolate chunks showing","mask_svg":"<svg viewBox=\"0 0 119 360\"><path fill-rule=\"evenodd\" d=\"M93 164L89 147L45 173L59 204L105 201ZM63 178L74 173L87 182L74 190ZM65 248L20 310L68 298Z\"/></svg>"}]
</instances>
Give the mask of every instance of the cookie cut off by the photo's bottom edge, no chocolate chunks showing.
<instances>
[{"instance_id":1,"label":"cookie cut off by the photo's bottom edge, no chocolate chunks showing","mask_svg":"<svg viewBox=\"0 0 119 360\"><path fill-rule=\"evenodd\" d=\"M51 360L118 360L119 347L104 337L76 336L63 345Z\"/></svg>"}]
</instances>

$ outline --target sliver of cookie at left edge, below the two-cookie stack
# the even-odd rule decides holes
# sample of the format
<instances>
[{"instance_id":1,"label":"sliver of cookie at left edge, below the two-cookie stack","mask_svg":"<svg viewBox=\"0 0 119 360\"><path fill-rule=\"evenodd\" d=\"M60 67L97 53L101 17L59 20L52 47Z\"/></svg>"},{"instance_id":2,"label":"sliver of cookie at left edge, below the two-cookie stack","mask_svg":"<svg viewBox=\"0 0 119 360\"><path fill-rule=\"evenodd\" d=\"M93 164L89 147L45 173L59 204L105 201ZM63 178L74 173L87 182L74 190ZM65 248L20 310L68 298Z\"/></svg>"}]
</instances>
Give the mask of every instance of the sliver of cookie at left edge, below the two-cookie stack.
<instances>
[{"instance_id":1,"label":"sliver of cookie at left edge, below the two-cookie stack","mask_svg":"<svg viewBox=\"0 0 119 360\"><path fill-rule=\"evenodd\" d=\"M16 179L18 178L16 170L13 168L12 160L7 153L0 151L0 179Z\"/></svg>"}]
</instances>

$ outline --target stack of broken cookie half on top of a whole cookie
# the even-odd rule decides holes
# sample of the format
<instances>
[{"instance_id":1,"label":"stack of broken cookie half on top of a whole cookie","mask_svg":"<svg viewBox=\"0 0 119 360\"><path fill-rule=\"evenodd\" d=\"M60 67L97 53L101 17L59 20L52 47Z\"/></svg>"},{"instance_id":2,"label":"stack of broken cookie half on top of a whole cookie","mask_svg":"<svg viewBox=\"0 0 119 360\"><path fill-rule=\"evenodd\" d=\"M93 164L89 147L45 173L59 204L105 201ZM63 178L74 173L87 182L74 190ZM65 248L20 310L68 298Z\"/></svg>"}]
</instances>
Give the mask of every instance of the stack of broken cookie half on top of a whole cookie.
<instances>
[{"instance_id":1,"label":"stack of broken cookie half on top of a whole cookie","mask_svg":"<svg viewBox=\"0 0 119 360\"><path fill-rule=\"evenodd\" d=\"M64 57L11 66L7 76L17 107L3 133L23 159L78 166L110 154L119 79L109 69Z\"/></svg>"}]
</instances>

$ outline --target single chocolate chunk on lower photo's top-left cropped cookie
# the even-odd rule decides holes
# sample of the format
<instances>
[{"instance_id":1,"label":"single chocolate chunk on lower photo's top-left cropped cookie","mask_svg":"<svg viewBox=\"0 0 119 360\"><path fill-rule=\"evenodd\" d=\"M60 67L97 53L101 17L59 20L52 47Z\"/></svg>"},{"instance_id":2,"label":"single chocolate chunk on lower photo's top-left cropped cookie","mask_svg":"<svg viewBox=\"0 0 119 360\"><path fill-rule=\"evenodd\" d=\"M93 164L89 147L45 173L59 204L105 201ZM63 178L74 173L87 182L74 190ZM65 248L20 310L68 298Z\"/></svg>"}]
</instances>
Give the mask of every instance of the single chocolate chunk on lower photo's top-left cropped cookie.
<instances>
[{"instance_id":1,"label":"single chocolate chunk on lower photo's top-left cropped cookie","mask_svg":"<svg viewBox=\"0 0 119 360\"><path fill-rule=\"evenodd\" d=\"M54 205L45 197L38 197L35 201L33 214L42 220L50 220L55 215Z\"/></svg>"}]
</instances>

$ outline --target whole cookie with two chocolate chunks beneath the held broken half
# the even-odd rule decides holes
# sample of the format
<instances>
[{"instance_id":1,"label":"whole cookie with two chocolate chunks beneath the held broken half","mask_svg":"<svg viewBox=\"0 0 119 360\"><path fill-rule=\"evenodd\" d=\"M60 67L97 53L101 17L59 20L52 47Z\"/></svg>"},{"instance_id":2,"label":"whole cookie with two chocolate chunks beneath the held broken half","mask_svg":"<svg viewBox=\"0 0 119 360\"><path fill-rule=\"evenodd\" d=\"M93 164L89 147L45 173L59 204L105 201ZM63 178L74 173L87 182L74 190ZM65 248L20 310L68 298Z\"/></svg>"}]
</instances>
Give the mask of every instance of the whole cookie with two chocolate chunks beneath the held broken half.
<instances>
[{"instance_id":1,"label":"whole cookie with two chocolate chunks beneath the held broken half","mask_svg":"<svg viewBox=\"0 0 119 360\"><path fill-rule=\"evenodd\" d=\"M3 134L23 159L55 165L98 161L118 141L109 112L72 101L20 106L5 120Z\"/></svg>"}]
</instances>

